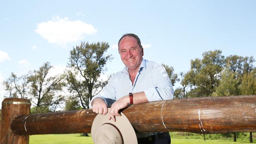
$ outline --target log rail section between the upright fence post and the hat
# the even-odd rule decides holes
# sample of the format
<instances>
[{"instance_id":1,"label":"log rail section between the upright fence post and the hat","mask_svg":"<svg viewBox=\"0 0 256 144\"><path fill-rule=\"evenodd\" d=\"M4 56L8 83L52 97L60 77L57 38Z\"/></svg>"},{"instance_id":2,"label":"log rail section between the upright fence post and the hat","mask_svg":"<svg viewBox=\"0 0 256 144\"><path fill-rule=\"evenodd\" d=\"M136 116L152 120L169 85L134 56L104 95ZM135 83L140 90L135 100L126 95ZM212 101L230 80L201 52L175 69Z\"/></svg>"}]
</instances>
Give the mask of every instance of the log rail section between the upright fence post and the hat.
<instances>
[{"instance_id":1,"label":"log rail section between the upright fence post and the hat","mask_svg":"<svg viewBox=\"0 0 256 144\"><path fill-rule=\"evenodd\" d=\"M19 135L91 132L96 115L92 109L83 109L18 116L11 129Z\"/></svg>"}]
</instances>

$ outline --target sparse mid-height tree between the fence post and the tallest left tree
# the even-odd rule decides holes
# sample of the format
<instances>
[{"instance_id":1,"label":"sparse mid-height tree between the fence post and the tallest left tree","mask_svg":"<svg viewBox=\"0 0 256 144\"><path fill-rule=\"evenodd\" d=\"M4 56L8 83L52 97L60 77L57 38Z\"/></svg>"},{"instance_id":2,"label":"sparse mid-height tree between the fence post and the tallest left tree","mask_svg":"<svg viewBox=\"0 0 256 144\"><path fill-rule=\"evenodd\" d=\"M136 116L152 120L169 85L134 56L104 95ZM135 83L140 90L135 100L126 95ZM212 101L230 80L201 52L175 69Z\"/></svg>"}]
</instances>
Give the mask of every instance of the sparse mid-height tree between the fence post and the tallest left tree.
<instances>
[{"instance_id":1,"label":"sparse mid-height tree between the fence post and the tallest left tree","mask_svg":"<svg viewBox=\"0 0 256 144\"><path fill-rule=\"evenodd\" d=\"M35 103L35 113L55 111L64 100L64 97L58 93L64 85L63 78L62 76L49 76L51 68L49 62L44 63L39 70L30 72L28 76L31 100Z\"/></svg>"}]
</instances>

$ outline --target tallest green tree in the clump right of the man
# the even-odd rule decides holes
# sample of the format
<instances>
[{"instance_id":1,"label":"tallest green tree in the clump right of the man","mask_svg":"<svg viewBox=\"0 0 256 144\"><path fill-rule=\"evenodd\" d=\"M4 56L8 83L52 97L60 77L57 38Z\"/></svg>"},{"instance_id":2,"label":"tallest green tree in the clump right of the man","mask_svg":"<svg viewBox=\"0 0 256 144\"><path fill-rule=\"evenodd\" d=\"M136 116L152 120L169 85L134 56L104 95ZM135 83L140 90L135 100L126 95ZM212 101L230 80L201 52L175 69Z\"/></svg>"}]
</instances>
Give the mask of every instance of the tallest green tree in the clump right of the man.
<instances>
[{"instance_id":1,"label":"tallest green tree in the clump right of the man","mask_svg":"<svg viewBox=\"0 0 256 144\"><path fill-rule=\"evenodd\" d=\"M224 65L221 53L221 50L208 51L202 54L202 60L191 60L191 68L184 76L190 89L188 97L211 96L215 91Z\"/></svg>"}]
</instances>

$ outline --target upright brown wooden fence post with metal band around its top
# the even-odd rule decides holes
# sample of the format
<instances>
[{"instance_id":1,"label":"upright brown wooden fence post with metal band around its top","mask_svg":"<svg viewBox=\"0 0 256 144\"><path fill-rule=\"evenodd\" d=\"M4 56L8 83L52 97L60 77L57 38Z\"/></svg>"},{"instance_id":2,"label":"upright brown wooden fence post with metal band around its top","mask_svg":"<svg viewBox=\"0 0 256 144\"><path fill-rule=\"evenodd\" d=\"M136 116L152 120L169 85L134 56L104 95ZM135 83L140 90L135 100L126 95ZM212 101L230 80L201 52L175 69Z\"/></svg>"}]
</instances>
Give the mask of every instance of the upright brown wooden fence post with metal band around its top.
<instances>
[{"instance_id":1,"label":"upright brown wooden fence post with metal band around its top","mask_svg":"<svg viewBox=\"0 0 256 144\"><path fill-rule=\"evenodd\" d=\"M30 114L30 100L5 98L1 110L0 144L28 144L28 135L16 135L11 130L11 122L20 115Z\"/></svg>"}]
</instances>

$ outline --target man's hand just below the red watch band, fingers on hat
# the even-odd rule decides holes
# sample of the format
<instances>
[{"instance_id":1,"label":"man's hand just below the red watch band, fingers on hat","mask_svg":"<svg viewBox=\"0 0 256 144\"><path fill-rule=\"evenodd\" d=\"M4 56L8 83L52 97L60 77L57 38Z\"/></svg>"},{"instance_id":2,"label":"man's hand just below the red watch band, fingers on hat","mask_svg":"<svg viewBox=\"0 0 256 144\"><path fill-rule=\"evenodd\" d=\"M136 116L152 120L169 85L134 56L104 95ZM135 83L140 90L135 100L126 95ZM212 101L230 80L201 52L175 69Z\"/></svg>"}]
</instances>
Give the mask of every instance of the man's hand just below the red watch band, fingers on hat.
<instances>
[{"instance_id":1,"label":"man's hand just below the red watch band, fingers on hat","mask_svg":"<svg viewBox=\"0 0 256 144\"><path fill-rule=\"evenodd\" d=\"M121 114L119 113L119 110L124 107L127 107L129 103L130 103L129 96L124 96L119 100L115 101L110 108L108 119L111 120L112 118L112 120L115 122L115 116L121 116Z\"/></svg>"}]
</instances>

